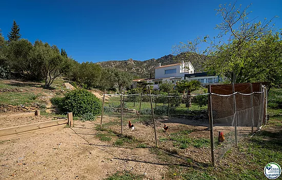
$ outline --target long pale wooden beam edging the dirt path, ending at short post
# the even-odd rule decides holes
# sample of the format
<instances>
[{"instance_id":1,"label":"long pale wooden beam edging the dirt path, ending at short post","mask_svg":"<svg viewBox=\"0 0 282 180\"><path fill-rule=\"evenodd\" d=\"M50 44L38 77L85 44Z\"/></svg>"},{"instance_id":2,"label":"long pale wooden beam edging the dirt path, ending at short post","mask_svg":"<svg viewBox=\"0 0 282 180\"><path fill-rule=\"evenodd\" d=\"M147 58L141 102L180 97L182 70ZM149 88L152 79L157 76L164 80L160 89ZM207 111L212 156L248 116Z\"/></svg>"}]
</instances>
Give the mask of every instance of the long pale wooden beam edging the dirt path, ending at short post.
<instances>
[{"instance_id":1,"label":"long pale wooden beam edging the dirt path, ending at short post","mask_svg":"<svg viewBox=\"0 0 282 180\"><path fill-rule=\"evenodd\" d=\"M28 125L22 125L22 126L15 126L15 127L8 127L4 129L0 129L0 137L6 136L9 134L19 133L19 132L25 132L35 129L42 129L46 127L61 125L61 124L67 124L67 119L59 119L54 121L47 121L47 122L40 122L35 124L28 124Z\"/></svg>"}]
</instances>

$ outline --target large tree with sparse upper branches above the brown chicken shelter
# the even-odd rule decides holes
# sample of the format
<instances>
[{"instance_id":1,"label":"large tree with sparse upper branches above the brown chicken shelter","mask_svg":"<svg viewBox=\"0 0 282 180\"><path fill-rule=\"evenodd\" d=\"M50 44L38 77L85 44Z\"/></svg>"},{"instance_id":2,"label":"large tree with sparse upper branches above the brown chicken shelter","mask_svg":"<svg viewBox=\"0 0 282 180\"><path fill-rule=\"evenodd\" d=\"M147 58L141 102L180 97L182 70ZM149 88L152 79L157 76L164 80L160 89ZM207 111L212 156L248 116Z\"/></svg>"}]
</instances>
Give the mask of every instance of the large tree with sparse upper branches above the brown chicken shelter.
<instances>
[{"instance_id":1,"label":"large tree with sparse upper branches above the brown chicken shelter","mask_svg":"<svg viewBox=\"0 0 282 180\"><path fill-rule=\"evenodd\" d=\"M241 5L235 7L235 4L219 5L216 9L216 14L222 19L215 27L219 31L216 37L207 35L187 43L180 42L173 49L176 54L185 52L184 55L191 56L197 63L202 64L205 71L225 77L224 79L229 82L254 82L258 80L257 77L269 76L266 74L268 72L266 67L272 68L274 64L267 62L269 60L267 58L273 55L279 56L278 51L269 51L272 46L264 46L265 49L253 51L258 45L262 46L263 41L272 39L271 36L275 35L273 18L256 21L256 18L248 17L250 5L242 8ZM202 43L205 44L206 49L200 48ZM266 56L268 57L265 58Z\"/></svg>"}]
</instances>

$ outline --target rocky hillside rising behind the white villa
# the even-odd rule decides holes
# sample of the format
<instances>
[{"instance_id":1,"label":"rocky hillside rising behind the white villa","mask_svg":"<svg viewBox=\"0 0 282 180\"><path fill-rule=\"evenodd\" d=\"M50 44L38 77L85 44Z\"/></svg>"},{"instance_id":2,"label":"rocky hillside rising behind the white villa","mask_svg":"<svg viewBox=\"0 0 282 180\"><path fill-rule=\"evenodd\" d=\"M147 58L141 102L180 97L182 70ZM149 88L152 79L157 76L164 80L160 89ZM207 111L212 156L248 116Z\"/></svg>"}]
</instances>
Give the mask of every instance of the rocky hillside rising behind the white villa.
<instances>
[{"instance_id":1,"label":"rocky hillside rising behind the white villa","mask_svg":"<svg viewBox=\"0 0 282 180\"><path fill-rule=\"evenodd\" d=\"M155 67L158 66L158 63L161 63L162 65L168 65L168 64L175 64L180 63L182 60L178 56L174 55L167 55L163 56L158 59L149 59L145 61L139 61L139 60L113 60L113 61L104 61L104 62L97 62L97 64L100 64L103 68L114 68L119 69L122 71L130 72L132 73L135 78L149 78L150 73L152 73L152 77L154 77ZM203 68L201 68L199 65L193 63L193 66L195 68L195 72L203 71Z\"/></svg>"}]
</instances>

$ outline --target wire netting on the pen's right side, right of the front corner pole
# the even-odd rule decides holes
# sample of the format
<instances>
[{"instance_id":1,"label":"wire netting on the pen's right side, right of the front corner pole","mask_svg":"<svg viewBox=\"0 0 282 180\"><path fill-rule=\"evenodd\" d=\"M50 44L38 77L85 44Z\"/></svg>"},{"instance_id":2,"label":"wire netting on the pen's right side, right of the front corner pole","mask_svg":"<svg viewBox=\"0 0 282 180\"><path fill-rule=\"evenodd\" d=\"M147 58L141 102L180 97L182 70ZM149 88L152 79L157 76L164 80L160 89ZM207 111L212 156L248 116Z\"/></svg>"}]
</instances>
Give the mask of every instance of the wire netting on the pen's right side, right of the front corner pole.
<instances>
[{"instance_id":1,"label":"wire netting on the pen's right side, right of the front corner pole","mask_svg":"<svg viewBox=\"0 0 282 180\"><path fill-rule=\"evenodd\" d=\"M246 92L245 92L246 93ZM219 161L232 147L265 123L266 92L230 93L211 95L215 160ZM219 132L224 133L225 141L218 141Z\"/></svg>"}]
</instances>

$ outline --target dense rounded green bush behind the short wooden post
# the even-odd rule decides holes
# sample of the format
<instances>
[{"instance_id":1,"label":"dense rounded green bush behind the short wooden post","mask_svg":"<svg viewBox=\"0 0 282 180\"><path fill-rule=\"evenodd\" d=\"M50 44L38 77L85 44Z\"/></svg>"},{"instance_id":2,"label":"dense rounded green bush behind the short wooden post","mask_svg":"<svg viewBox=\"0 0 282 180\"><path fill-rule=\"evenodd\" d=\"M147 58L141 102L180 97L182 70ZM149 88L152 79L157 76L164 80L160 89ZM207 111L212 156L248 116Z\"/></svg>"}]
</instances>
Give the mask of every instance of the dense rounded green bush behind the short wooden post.
<instances>
[{"instance_id":1,"label":"dense rounded green bush behind the short wooden post","mask_svg":"<svg viewBox=\"0 0 282 180\"><path fill-rule=\"evenodd\" d=\"M92 113L94 116L102 111L100 100L86 89L75 89L66 94L62 99L61 110L63 113L72 112L74 116L82 117Z\"/></svg>"}]
</instances>

